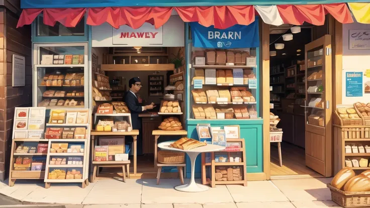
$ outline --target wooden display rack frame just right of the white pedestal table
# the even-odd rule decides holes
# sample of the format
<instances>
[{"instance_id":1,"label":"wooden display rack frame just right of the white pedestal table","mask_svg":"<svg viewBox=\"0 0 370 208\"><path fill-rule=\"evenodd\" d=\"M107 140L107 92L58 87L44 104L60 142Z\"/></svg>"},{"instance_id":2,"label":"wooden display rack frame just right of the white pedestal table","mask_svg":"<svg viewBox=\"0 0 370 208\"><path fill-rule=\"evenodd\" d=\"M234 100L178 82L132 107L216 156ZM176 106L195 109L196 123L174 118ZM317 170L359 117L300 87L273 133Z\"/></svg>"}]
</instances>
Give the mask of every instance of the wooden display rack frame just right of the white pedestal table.
<instances>
[{"instance_id":1,"label":"wooden display rack frame just right of the white pedestal table","mask_svg":"<svg viewBox=\"0 0 370 208\"><path fill-rule=\"evenodd\" d=\"M247 186L247 171L246 171L246 155L245 155L245 141L244 139L227 139L229 142L241 142L241 147L239 151L232 152L242 152L243 161L242 162L215 162L215 152L211 153L211 162L206 163L206 155L202 153L202 184L210 184L211 187L215 187L216 184L243 184ZM230 158L230 151L220 151L227 152L228 158ZM211 166L211 178L206 176L206 167ZM231 180L231 181L216 181L215 173L216 166L241 166L243 167L243 180Z\"/></svg>"}]
</instances>

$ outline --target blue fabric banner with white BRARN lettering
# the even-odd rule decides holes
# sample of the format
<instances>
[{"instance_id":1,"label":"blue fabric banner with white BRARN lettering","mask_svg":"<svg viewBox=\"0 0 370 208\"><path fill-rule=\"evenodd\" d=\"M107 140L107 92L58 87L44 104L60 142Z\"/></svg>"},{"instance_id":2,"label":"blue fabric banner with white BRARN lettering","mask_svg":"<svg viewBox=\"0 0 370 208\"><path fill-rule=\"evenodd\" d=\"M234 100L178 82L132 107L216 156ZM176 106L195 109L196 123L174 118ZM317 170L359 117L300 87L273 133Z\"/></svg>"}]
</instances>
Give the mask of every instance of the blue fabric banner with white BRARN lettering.
<instances>
[{"instance_id":1,"label":"blue fabric banner with white BRARN lettering","mask_svg":"<svg viewBox=\"0 0 370 208\"><path fill-rule=\"evenodd\" d=\"M255 48L259 47L258 21L250 25L234 25L227 29L204 27L199 23L190 23L193 46L198 48Z\"/></svg>"}]
</instances>

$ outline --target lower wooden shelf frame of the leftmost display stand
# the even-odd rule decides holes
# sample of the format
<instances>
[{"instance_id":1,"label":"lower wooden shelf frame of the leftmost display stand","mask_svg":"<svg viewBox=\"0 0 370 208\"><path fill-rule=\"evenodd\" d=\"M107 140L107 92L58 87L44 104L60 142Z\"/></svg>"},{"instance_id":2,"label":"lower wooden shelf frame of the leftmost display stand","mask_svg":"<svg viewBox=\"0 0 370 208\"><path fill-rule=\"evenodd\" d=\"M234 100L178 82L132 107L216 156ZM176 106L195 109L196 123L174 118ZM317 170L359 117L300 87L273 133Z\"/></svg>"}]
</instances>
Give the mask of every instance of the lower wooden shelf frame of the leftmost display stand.
<instances>
[{"instance_id":1,"label":"lower wooden shelf frame of the leftmost display stand","mask_svg":"<svg viewBox=\"0 0 370 208\"><path fill-rule=\"evenodd\" d=\"M14 162L17 156L40 156L46 155L46 153L15 153L17 149L17 142L35 142L45 143L48 139L13 139L10 159L10 170L9 170L9 186L14 186L17 179L44 179L45 170L13 170ZM37 150L37 149L36 149Z\"/></svg>"}]
</instances>

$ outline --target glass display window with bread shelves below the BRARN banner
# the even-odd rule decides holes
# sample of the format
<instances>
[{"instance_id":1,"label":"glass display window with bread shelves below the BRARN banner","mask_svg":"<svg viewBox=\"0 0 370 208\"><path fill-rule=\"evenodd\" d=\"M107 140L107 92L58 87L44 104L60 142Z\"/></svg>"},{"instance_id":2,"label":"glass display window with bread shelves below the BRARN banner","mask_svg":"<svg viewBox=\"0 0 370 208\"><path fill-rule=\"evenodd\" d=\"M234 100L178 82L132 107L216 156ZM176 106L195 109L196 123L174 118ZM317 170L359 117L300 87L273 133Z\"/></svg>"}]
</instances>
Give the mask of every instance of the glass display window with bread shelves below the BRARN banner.
<instances>
[{"instance_id":1,"label":"glass display window with bread shelves below the BRARN banner","mask_svg":"<svg viewBox=\"0 0 370 208\"><path fill-rule=\"evenodd\" d=\"M190 119L259 118L256 48L191 48Z\"/></svg>"}]
</instances>

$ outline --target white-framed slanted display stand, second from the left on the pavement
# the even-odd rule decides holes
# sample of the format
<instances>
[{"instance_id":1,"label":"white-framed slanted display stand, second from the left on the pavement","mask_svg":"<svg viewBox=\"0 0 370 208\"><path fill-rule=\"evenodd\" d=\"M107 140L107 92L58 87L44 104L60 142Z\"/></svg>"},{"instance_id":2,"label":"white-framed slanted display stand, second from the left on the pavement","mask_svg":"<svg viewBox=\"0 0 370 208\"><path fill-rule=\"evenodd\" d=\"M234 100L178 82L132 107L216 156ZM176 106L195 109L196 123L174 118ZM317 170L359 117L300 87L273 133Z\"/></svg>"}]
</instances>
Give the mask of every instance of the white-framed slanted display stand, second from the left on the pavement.
<instances>
[{"instance_id":1,"label":"white-framed slanted display stand, second from the left on the pavement","mask_svg":"<svg viewBox=\"0 0 370 208\"><path fill-rule=\"evenodd\" d=\"M87 115L91 115L89 109L71 109L72 111L87 111ZM69 111L69 110L67 110ZM90 121L90 116L86 119L86 121ZM46 124L46 127L86 127L86 133L85 133L85 139L50 139L49 140L49 146L48 146L48 153L46 158L46 168L45 168L45 188L50 187L50 183L81 183L81 187L85 188L86 185L88 185L88 167L89 167L89 151L88 148L90 146L90 124ZM83 143L83 153L81 152L70 152L70 153L51 153L50 149L52 147L53 143L68 143L69 144L81 144ZM80 164L60 164L60 165L51 165L51 157L53 156L61 156L61 157L68 157L68 156L81 156L82 159L82 165ZM51 172L51 169L72 169L72 168L82 168L82 178L81 179L49 179L49 172ZM67 171L66 171L67 172Z\"/></svg>"}]
</instances>

